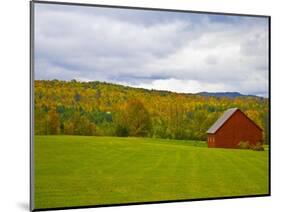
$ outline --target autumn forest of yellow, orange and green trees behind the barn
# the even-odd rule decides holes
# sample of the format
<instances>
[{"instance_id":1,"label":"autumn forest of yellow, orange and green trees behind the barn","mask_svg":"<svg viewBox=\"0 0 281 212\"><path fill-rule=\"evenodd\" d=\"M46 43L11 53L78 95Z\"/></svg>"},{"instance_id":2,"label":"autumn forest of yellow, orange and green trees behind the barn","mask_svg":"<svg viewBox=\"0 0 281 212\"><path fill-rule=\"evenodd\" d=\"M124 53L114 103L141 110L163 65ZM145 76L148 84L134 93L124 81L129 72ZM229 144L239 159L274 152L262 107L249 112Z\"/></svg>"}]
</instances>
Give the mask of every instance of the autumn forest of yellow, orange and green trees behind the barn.
<instances>
[{"instance_id":1,"label":"autumn forest of yellow, orange and green trees behind the barn","mask_svg":"<svg viewBox=\"0 0 281 212\"><path fill-rule=\"evenodd\" d=\"M35 134L206 140L206 130L238 107L268 140L268 99L206 97L105 82L35 81Z\"/></svg>"}]
</instances>

